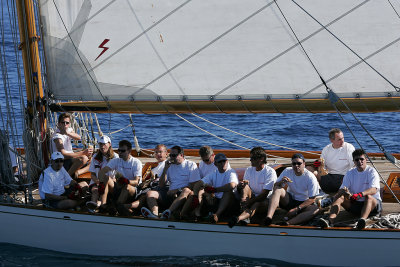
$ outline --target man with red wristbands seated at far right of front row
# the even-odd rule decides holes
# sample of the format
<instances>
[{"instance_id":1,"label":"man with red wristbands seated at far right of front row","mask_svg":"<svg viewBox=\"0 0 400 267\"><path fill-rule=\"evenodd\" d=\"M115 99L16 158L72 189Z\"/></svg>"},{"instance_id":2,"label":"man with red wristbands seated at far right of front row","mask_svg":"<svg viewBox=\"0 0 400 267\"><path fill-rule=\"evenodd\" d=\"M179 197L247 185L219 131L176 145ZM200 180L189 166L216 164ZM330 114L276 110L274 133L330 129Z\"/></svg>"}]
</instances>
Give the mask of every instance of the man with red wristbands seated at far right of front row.
<instances>
[{"instance_id":1,"label":"man with red wristbands seated at far right of front row","mask_svg":"<svg viewBox=\"0 0 400 267\"><path fill-rule=\"evenodd\" d=\"M378 173L367 165L367 156L364 150L356 149L352 156L356 167L349 170L344 176L343 183L335 195L329 212L329 219L320 219L319 223L324 228L333 225L340 212L340 206L360 216L356 225L357 229L365 228L366 219L370 215L376 215L382 211Z\"/></svg>"}]
</instances>

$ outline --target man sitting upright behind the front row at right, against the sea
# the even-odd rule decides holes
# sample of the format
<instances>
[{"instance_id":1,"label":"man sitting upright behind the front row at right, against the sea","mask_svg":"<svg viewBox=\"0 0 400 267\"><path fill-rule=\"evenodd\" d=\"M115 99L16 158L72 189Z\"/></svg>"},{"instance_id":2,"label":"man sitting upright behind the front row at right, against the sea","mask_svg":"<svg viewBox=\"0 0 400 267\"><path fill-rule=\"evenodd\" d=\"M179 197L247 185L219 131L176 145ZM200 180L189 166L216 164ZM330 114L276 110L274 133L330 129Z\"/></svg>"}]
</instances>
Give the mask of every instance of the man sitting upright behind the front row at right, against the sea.
<instances>
[{"instance_id":1,"label":"man sitting upright behind the front row at right, against the sea","mask_svg":"<svg viewBox=\"0 0 400 267\"><path fill-rule=\"evenodd\" d=\"M325 193L336 193L343 181L343 176L350 170L353 164L351 154L354 146L344 141L343 132L338 128L329 131L329 140L331 144L324 147L321 158L328 174L317 178L321 189Z\"/></svg>"}]
</instances>

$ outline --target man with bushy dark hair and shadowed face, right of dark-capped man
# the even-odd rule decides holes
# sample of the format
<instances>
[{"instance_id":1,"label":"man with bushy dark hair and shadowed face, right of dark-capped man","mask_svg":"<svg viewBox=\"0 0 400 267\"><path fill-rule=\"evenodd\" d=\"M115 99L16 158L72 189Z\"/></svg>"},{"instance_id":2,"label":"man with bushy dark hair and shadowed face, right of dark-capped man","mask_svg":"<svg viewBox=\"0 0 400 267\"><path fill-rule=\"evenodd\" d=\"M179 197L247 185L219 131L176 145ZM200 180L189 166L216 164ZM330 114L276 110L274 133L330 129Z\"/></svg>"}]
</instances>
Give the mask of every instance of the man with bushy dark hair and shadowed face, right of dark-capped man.
<instances>
[{"instance_id":1,"label":"man with bushy dark hair and shadowed face, right of dark-capped man","mask_svg":"<svg viewBox=\"0 0 400 267\"><path fill-rule=\"evenodd\" d=\"M250 162L251 167L246 169L243 181L238 185L242 213L229 220L228 226L231 228L237 223L246 225L256 210L267 208L267 197L277 179L275 170L267 165L267 154L262 147L254 147L250 151Z\"/></svg>"}]
</instances>

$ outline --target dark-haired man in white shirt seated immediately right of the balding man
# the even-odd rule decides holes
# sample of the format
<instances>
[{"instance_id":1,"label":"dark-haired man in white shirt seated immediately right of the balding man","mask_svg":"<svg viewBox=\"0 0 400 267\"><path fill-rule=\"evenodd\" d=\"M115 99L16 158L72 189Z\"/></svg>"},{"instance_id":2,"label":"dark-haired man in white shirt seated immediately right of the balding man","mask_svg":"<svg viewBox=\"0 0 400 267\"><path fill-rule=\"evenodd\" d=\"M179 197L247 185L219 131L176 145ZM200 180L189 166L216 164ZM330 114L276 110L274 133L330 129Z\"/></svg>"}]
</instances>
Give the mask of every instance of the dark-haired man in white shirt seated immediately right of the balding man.
<instances>
[{"instance_id":1,"label":"dark-haired man in white shirt seated immediately right of the balding man","mask_svg":"<svg viewBox=\"0 0 400 267\"><path fill-rule=\"evenodd\" d=\"M161 219L169 219L172 212L178 210L192 193L194 183L200 180L199 169L196 163L185 159L183 149L174 146L169 154L160 177L159 189L147 192L147 205L149 209L142 208L144 217L158 218L158 205L168 207ZM166 187L170 182L169 189ZM171 204L172 203L172 204Z\"/></svg>"}]
</instances>

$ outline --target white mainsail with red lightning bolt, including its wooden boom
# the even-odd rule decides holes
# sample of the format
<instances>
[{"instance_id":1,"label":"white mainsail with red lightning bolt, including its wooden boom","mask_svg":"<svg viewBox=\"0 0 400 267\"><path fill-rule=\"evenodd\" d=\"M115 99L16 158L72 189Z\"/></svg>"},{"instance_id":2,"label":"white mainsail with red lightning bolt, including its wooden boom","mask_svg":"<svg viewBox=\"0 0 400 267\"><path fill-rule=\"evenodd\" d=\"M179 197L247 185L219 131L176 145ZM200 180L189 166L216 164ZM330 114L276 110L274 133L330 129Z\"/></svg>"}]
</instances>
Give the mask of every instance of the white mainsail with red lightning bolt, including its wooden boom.
<instances>
[{"instance_id":1,"label":"white mainsail with red lightning bolt, including its wooden boom","mask_svg":"<svg viewBox=\"0 0 400 267\"><path fill-rule=\"evenodd\" d=\"M54 0L40 10L59 101L154 113L332 111L319 73L357 111L400 106L398 1Z\"/></svg>"}]
</instances>

